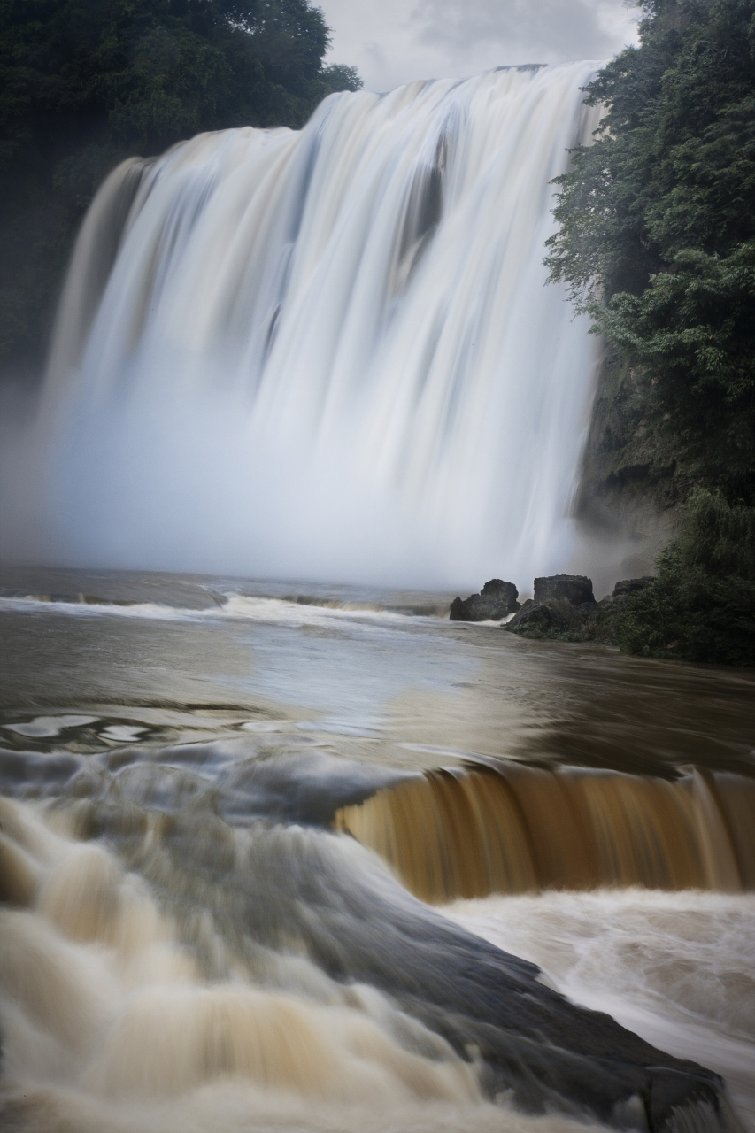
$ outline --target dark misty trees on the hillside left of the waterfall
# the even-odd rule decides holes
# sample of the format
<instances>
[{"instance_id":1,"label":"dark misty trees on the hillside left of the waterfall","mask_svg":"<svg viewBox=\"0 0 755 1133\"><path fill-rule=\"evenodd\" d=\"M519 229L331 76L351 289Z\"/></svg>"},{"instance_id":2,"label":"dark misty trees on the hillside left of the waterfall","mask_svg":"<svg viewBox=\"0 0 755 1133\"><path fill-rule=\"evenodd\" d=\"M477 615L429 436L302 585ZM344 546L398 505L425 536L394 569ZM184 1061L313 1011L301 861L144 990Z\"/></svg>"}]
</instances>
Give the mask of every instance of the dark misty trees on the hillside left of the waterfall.
<instances>
[{"instance_id":1,"label":"dark misty trees on the hillside left of the waterfall","mask_svg":"<svg viewBox=\"0 0 755 1133\"><path fill-rule=\"evenodd\" d=\"M308 0L0 0L0 364L39 364L84 210L133 153L302 126L362 84Z\"/></svg>"}]
</instances>

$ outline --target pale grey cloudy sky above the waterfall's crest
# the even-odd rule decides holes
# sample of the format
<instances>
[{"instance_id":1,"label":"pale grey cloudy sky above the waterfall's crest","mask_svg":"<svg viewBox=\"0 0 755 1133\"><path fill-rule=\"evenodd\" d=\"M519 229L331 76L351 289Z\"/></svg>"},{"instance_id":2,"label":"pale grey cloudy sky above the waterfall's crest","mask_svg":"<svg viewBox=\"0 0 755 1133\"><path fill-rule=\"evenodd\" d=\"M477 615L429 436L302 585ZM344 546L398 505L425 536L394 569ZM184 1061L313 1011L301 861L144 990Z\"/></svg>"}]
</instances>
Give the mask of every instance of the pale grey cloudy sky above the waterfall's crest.
<instances>
[{"instance_id":1,"label":"pale grey cloudy sky above the waterfall's crest","mask_svg":"<svg viewBox=\"0 0 755 1133\"><path fill-rule=\"evenodd\" d=\"M638 16L625 0L319 0L319 7L332 28L328 61L356 67L373 91L507 63L608 59L636 42Z\"/></svg>"}]
</instances>

